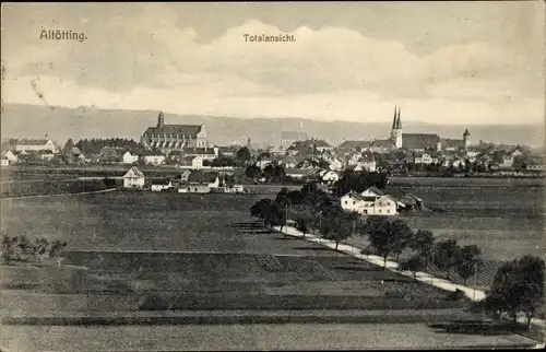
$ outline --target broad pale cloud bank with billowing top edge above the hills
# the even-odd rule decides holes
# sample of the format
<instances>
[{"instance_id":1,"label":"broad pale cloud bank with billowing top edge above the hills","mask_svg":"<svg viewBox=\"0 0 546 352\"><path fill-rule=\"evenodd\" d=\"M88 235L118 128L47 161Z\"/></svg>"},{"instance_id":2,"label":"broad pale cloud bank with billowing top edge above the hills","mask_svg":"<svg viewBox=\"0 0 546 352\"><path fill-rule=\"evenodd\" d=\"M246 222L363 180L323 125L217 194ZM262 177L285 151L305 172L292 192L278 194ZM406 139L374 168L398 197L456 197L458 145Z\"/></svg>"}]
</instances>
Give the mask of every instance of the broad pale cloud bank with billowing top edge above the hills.
<instances>
[{"instance_id":1,"label":"broad pale cloud bank with billowing top edge above the hills","mask_svg":"<svg viewBox=\"0 0 546 352\"><path fill-rule=\"evenodd\" d=\"M404 102L417 119L429 115L426 106L464 118L543 117L535 108L543 71L480 42L418 56L401 42L340 26L299 26L287 33L295 43L245 42L245 34L286 34L257 19L203 42L163 4L62 16L63 28L86 33L83 43L40 40L43 24L32 23L2 31L7 102L36 103L28 82L40 78L48 104L67 106L361 120Z\"/></svg>"}]
</instances>

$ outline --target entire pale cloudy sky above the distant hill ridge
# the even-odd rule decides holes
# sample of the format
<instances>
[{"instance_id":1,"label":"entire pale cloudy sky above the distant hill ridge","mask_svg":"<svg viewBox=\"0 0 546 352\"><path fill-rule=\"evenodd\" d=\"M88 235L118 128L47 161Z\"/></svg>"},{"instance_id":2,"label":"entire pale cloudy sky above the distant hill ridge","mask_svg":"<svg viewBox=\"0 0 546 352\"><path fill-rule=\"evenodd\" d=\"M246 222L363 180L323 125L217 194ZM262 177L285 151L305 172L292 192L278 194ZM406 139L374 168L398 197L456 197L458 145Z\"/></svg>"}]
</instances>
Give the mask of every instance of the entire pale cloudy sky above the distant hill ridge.
<instances>
[{"instance_id":1,"label":"entire pale cloudy sky above the distant hill ridge","mask_svg":"<svg viewBox=\"0 0 546 352\"><path fill-rule=\"evenodd\" d=\"M361 122L397 104L404 121L545 119L543 1L2 3L1 24L3 103Z\"/></svg>"}]
</instances>

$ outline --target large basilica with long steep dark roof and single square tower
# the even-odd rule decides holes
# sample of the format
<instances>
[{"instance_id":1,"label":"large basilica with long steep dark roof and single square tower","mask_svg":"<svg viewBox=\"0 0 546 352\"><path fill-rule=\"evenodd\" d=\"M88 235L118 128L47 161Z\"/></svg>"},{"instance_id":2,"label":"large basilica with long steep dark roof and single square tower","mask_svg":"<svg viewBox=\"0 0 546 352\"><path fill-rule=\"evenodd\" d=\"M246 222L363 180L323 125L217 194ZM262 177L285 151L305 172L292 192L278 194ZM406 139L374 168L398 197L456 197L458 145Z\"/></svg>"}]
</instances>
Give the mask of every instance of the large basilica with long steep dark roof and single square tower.
<instances>
[{"instance_id":1,"label":"large basilica with long steep dark roof and single square tower","mask_svg":"<svg viewBox=\"0 0 546 352\"><path fill-rule=\"evenodd\" d=\"M164 153L183 150L185 148L209 146L204 124L201 125L165 125L163 113L157 116L157 125L149 127L141 137L145 148L159 149Z\"/></svg>"}]
</instances>

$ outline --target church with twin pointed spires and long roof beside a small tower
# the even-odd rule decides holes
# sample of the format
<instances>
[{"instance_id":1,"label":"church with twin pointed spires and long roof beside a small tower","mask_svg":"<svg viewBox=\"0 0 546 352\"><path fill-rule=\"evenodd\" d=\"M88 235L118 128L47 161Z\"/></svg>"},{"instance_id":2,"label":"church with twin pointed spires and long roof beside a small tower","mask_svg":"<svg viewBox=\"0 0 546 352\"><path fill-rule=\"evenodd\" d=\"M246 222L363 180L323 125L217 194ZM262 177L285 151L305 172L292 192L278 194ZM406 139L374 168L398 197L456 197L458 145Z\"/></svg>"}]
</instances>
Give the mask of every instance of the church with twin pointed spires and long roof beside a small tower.
<instances>
[{"instance_id":1,"label":"church with twin pointed spires and long roof beside a small tower","mask_svg":"<svg viewBox=\"0 0 546 352\"><path fill-rule=\"evenodd\" d=\"M471 133L465 129L463 139L440 138L436 133L403 133L402 120L400 118L400 107L394 107L391 136L387 140L376 140L372 142L375 149L395 150L405 149L411 151L468 151L471 145Z\"/></svg>"}]
</instances>

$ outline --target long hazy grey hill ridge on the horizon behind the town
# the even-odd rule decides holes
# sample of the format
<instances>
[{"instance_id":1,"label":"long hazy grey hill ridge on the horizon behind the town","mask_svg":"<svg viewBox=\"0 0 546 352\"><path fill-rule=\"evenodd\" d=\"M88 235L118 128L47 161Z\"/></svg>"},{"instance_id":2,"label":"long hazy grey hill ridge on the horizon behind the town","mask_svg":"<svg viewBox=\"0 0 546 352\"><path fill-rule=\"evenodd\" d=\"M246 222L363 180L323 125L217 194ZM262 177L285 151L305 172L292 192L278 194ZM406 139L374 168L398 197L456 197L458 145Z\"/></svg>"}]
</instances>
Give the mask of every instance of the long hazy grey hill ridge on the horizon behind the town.
<instances>
[{"instance_id":1,"label":"long hazy grey hill ridge on the horizon behind the town","mask_svg":"<svg viewBox=\"0 0 546 352\"><path fill-rule=\"evenodd\" d=\"M156 110L110 110L95 107L46 107L5 104L1 114L2 139L10 137L39 138L46 133L58 143L69 138L134 138L138 140L149 126L155 126ZM213 144L234 141L277 145L281 132L298 130L299 118L237 118L222 116L185 116L165 113L165 124L198 125L204 122ZM447 138L462 138L465 126L403 121L404 132L438 133ZM333 145L343 140L387 138L391 118L384 121L358 124L346 121L322 122L304 120L304 130L311 137L325 139ZM544 126L541 125L473 125L468 126L472 141L494 141L507 144L544 145Z\"/></svg>"}]
</instances>

